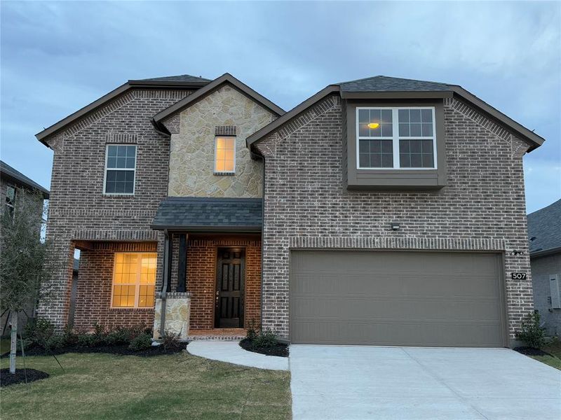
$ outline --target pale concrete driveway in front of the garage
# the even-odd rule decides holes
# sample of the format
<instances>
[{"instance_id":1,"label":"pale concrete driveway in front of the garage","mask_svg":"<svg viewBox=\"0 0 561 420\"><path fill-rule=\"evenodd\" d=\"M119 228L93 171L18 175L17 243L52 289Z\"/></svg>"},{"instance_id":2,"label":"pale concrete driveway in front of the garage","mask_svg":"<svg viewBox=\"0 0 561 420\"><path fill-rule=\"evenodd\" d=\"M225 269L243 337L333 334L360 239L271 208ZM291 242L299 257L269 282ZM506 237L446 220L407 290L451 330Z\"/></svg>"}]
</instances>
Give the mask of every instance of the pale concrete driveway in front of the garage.
<instances>
[{"instance_id":1,"label":"pale concrete driveway in front of the garage","mask_svg":"<svg viewBox=\"0 0 561 420\"><path fill-rule=\"evenodd\" d=\"M509 349L290 346L302 419L561 419L561 371Z\"/></svg>"}]
</instances>

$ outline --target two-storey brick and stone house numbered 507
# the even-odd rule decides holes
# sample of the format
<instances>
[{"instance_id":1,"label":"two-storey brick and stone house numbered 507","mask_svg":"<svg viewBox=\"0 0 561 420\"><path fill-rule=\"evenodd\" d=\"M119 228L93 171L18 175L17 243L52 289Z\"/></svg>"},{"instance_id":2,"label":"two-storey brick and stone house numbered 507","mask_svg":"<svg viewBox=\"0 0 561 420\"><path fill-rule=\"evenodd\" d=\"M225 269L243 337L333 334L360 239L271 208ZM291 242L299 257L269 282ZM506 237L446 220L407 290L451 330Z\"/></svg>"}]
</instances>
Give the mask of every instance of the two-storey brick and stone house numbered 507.
<instances>
[{"instance_id":1,"label":"two-storey brick and stone house numbered 507","mask_svg":"<svg viewBox=\"0 0 561 420\"><path fill-rule=\"evenodd\" d=\"M228 73L129 80L36 137L59 328L75 248L75 328L509 346L533 309L522 156L543 139L458 85L374 76L285 112Z\"/></svg>"}]
</instances>

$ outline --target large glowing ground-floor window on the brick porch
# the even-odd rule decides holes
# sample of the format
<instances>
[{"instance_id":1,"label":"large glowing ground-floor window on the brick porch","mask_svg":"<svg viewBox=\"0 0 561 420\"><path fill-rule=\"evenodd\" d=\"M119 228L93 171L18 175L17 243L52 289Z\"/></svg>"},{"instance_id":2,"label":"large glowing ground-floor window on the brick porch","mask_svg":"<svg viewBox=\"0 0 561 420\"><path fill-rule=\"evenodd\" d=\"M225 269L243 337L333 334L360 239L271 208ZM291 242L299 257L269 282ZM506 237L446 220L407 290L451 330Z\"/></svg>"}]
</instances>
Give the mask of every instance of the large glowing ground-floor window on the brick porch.
<instances>
[{"instance_id":1,"label":"large glowing ground-floor window on the brick porch","mask_svg":"<svg viewBox=\"0 0 561 420\"><path fill-rule=\"evenodd\" d=\"M115 254L111 307L154 307L155 286L156 253Z\"/></svg>"}]
</instances>

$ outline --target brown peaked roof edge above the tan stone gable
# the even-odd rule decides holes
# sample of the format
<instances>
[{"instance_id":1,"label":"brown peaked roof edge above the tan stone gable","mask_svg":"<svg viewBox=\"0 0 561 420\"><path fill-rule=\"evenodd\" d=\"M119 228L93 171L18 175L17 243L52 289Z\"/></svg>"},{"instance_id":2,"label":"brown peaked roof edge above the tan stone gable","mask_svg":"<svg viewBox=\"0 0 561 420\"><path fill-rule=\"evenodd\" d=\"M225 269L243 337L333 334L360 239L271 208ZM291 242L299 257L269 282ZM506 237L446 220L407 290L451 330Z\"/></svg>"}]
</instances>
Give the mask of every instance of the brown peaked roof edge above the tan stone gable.
<instances>
[{"instance_id":1,"label":"brown peaked roof edge above the tan stone gable","mask_svg":"<svg viewBox=\"0 0 561 420\"><path fill-rule=\"evenodd\" d=\"M208 94L214 92L219 87L224 85L224 83L229 83L230 85L234 86L238 91L245 94L245 96L253 99L255 102L261 104L266 109L269 109L269 111L275 113L277 116L282 116L285 113L285 110L280 108L280 106L273 104L273 102L269 101L269 99L266 99L266 97L264 97L262 94L259 94L248 85L245 85L245 83L242 83L230 73L224 73L222 76L215 78L215 80L212 80L212 82L208 83L208 85L205 85L205 87L202 87L193 94L190 94L188 97L184 97L169 108L158 112L154 117L152 117L152 123L154 124L154 127L156 127L156 130L159 130L161 132L168 132L168 130L161 123L163 120L165 120L165 118L168 118L169 116L172 116L173 114L183 111L189 106L196 104Z\"/></svg>"}]
</instances>

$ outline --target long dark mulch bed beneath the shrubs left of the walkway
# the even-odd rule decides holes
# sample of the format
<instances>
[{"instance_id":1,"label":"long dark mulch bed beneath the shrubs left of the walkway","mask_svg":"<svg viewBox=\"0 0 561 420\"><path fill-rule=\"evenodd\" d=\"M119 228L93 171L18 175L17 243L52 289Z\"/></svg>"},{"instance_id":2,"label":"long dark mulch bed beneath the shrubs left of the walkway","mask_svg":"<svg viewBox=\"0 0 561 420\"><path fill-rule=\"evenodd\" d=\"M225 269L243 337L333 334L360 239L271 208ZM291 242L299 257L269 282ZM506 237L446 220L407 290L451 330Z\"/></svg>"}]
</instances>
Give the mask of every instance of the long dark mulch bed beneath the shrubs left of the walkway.
<instances>
[{"instance_id":1,"label":"long dark mulch bed beneath the shrubs left of the walkway","mask_svg":"<svg viewBox=\"0 0 561 420\"><path fill-rule=\"evenodd\" d=\"M183 351L187 343L180 343L172 348L164 349L163 346L151 346L149 349L136 351L128 348L128 344L121 346L100 346L100 347L62 347L53 351L47 351L43 347L33 347L25 351L25 356L52 356L54 354L64 353L108 353L118 356L161 356L163 354L174 354ZM8 357L10 353L4 353L0 357ZM21 351L18 351L18 356L21 356Z\"/></svg>"}]
</instances>

